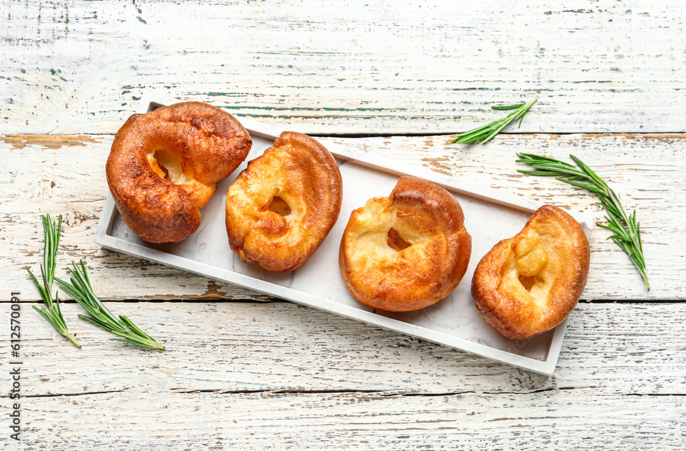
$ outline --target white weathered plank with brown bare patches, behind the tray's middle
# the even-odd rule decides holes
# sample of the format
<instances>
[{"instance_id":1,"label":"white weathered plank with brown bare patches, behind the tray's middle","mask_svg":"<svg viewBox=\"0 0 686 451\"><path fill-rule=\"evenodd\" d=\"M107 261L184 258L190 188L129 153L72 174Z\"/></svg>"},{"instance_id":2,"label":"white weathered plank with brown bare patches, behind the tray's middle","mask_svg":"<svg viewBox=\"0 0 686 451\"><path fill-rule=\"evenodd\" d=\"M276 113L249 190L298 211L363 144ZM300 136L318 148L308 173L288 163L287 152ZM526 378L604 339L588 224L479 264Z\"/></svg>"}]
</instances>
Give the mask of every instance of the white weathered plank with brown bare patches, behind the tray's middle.
<instances>
[{"instance_id":1,"label":"white weathered plank with brown bare patches, behind the tray's middle","mask_svg":"<svg viewBox=\"0 0 686 451\"><path fill-rule=\"evenodd\" d=\"M602 219L596 199L552 178L517 173L516 151L566 159L574 154L610 180L627 210L638 210L652 283L647 292L638 272L601 228L591 236L591 271L583 299L683 300L686 155L684 135L508 135L487 145L453 145L447 136L336 138L372 154L456 175L588 213ZM230 284L215 283L176 269L100 249L93 234L107 184L104 176L112 136L26 136L0 138L0 285L38 299L25 269L38 271L43 232L40 215L64 215L60 271L71 259L90 266L97 293L104 297L174 299L250 297ZM222 193L217 193L222 195ZM345 220L339 218L339 220ZM227 252L230 252L227 249ZM480 258L480 256L473 256ZM59 272L58 272L59 274ZM122 284L121 280L126 280ZM9 293L0 294L9 300Z\"/></svg>"}]
</instances>

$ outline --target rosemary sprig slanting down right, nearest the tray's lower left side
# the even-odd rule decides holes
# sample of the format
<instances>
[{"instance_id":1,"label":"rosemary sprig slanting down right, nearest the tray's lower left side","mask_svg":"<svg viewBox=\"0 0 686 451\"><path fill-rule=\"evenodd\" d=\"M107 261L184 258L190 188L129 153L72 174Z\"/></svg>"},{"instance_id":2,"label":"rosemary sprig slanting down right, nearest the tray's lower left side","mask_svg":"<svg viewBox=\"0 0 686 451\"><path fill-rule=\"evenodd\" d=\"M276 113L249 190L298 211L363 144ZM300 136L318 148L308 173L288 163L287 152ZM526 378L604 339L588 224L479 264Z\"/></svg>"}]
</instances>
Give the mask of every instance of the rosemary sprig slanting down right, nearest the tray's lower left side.
<instances>
[{"instance_id":1,"label":"rosemary sprig slanting down right, nearest the tray's lower left side","mask_svg":"<svg viewBox=\"0 0 686 451\"><path fill-rule=\"evenodd\" d=\"M113 334L123 337L123 339L110 339L114 341L123 341L132 345L142 346L143 348L156 348L163 350L165 347L161 345L150 335L143 332L135 324L132 323L124 315L119 315L119 319L113 315L110 310L98 299L93 293L91 281L88 280L88 273L86 273L86 265L83 260L80 261L80 267L73 260L71 261L73 269L67 268L71 273L71 284L56 278L57 282L62 285L62 290L67 295L79 303L91 316L79 315L81 319L85 319L91 324L95 324L100 328L109 330Z\"/></svg>"}]
</instances>

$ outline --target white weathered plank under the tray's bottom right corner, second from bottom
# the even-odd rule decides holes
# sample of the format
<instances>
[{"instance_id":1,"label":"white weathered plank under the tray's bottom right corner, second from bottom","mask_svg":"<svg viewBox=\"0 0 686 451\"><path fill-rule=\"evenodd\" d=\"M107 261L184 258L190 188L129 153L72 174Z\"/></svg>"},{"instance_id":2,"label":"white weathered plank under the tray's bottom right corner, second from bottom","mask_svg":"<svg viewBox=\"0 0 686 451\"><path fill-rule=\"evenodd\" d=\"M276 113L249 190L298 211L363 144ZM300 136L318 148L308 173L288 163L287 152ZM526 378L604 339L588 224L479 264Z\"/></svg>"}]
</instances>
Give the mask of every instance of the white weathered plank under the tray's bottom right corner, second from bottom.
<instances>
[{"instance_id":1,"label":"white weathered plank under the tray's bottom right corner, second from bottom","mask_svg":"<svg viewBox=\"0 0 686 451\"><path fill-rule=\"evenodd\" d=\"M3 311L9 312L8 304ZM129 391L393 391L598 395L685 393L686 304L581 303L546 378L289 302L108 302L165 351L109 341L63 304L76 348L21 304L25 395ZM517 341L512 341L516 346ZM0 368L9 361L0 350ZM3 371L4 372L4 371Z\"/></svg>"}]
</instances>

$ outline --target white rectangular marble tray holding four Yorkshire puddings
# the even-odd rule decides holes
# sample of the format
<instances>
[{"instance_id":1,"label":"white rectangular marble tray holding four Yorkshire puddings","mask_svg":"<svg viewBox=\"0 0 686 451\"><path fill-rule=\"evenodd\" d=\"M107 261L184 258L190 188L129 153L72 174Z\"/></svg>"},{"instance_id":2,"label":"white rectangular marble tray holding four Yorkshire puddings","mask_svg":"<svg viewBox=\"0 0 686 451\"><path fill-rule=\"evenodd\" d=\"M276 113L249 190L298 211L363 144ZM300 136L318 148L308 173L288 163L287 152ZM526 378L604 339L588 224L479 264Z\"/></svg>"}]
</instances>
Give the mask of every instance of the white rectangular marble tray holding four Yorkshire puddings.
<instances>
[{"instance_id":1,"label":"white rectangular marble tray holding four Yorkshire puddings","mask_svg":"<svg viewBox=\"0 0 686 451\"><path fill-rule=\"evenodd\" d=\"M141 98L137 112L145 113L179 101L148 92ZM202 223L196 232L180 243L147 243L126 226L109 194L95 232L95 243L537 373L548 376L553 373L566 320L538 337L509 340L484 321L470 293L471 278L482 256L501 239L517 234L532 212L543 205L541 202L318 140L335 156L343 178L343 204L338 222L306 263L286 273L266 271L257 263L242 261L230 250L224 219L226 191L247 162L261 156L283 130L250 119L238 119L252 136L252 149L246 162L217 184L217 193L201 210ZM338 247L351 211L364 206L371 197L388 196L401 175L414 175L450 191L462 206L473 247L469 269L448 297L422 310L386 313L360 304L348 293L338 269ZM571 215L587 234L591 233L592 218L574 212Z\"/></svg>"}]
</instances>

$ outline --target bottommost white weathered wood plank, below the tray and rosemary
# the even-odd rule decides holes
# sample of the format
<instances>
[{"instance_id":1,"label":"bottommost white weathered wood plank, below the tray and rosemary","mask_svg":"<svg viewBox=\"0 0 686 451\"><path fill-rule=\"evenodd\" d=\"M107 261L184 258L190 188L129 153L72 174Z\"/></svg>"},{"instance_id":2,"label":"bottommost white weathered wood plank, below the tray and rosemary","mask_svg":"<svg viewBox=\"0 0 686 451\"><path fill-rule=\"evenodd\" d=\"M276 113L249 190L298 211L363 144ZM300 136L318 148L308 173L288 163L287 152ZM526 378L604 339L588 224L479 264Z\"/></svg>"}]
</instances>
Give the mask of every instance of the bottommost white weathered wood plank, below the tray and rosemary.
<instances>
[{"instance_id":1,"label":"bottommost white weathered wood plank, below the tray and rosemary","mask_svg":"<svg viewBox=\"0 0 686 451\"><path fill-rule=\"evenodd\" d=\"M593 390L431 397L124 391L33 398L25 406L23 441L5 449L663 451L683 449L685 416L683 396Z\"/></svg>"}]
</instances>

